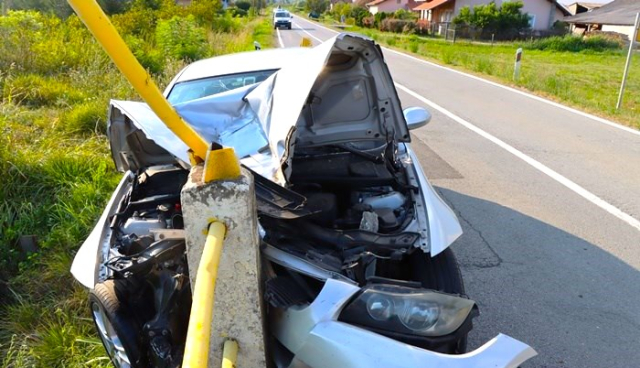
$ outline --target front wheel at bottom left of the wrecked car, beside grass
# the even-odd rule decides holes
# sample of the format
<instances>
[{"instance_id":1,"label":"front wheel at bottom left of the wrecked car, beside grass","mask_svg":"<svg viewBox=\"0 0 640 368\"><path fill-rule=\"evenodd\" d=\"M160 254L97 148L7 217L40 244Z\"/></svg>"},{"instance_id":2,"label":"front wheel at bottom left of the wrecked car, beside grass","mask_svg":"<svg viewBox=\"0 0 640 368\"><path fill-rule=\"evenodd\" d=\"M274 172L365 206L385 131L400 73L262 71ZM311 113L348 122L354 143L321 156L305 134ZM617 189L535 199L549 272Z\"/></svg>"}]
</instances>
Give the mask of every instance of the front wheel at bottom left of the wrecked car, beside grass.
<instances>
[{"instance_id":1,"label":"front wheel at bottom left of the wrecked car, beside grass","mask_svg":"<svg viewBox=\"0 0 640 368\"><path fill-rule=\"evenodd\" d=\"M107 280L95 286L89 295L91 315L102 344L116 368L141 367L138 345L139 331L124 310L118 280Z\"/></svg>"}]
</instances>

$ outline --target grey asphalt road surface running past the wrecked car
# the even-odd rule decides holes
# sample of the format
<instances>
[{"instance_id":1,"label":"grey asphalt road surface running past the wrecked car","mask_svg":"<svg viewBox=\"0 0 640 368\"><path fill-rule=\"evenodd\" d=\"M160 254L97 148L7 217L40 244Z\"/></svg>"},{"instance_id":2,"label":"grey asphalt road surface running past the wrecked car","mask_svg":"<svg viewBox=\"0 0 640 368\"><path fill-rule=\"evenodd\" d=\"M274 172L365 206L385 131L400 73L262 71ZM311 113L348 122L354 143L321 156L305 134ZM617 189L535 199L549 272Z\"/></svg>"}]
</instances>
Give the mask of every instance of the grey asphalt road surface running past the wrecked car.
<instances>
[{"instance_id":1,"label":"grey asphalt road surface running past the wrecked car","mask_svg":"<svg viewBox=\"0 0 640 368\"><path fill-rule=\"evenodd\" d=\"M296 16L276 43L335 35ZM403 106L433 114L412 146L464 229L470 348L502 332L538 351L523 367L640 367L640 133L384 55Z\"/></svg>"}]
</instances>

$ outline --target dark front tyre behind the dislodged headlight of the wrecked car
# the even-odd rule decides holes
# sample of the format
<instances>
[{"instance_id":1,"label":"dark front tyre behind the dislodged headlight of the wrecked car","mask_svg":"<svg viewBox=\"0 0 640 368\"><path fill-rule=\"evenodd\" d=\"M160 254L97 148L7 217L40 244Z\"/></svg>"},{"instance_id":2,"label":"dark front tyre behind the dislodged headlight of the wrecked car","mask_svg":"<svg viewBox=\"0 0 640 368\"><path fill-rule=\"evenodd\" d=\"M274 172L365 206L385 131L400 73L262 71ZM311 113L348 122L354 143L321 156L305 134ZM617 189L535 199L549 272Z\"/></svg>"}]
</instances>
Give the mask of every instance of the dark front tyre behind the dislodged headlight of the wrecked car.
<instances>
[{"instance_id":1,"label":"dark front tyre behind the dislodged headlight of the wrecked car","mask_svg":"<svg viewBox=\"0 0 640 368\"><path fill-rule=\"evenodd\" d=\"M451 248L445 249L433 258L423 252L414 252L410 260L413 278L419 281L422 287L449 294L465 295L462 273ZM467 336L465 335L451 347L451 353L464 354L466 351Z\"/></svg>"}]
</instances>

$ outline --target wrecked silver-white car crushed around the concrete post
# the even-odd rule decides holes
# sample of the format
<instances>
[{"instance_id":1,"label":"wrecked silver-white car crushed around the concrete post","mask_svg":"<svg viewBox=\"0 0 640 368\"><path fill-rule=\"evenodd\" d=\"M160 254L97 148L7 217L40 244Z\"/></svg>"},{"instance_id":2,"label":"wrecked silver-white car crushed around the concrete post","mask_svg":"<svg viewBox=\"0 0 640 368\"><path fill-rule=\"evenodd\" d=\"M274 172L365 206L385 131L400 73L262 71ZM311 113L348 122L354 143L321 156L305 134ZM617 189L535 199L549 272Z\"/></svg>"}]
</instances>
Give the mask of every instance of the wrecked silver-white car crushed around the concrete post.
<instances>
[{"instance_id":1,"label":"wrecked silver-white car crushed around the concrete post","mask_svg":"<svg viewBox=\"0 0 640 368\"><path fill-rule=\"evenodd\" d=\"M255 174L272 366L516 367L535 355L504 335L466 353L478 312L449 248L461 227L410 146L430 115L403 112L373 41L202 60L165 96ZM187 147L138 102L112 101L109 139L125 174L71 271L117 367L177 367L191 304Z\"/></svg>"}]
</instances>

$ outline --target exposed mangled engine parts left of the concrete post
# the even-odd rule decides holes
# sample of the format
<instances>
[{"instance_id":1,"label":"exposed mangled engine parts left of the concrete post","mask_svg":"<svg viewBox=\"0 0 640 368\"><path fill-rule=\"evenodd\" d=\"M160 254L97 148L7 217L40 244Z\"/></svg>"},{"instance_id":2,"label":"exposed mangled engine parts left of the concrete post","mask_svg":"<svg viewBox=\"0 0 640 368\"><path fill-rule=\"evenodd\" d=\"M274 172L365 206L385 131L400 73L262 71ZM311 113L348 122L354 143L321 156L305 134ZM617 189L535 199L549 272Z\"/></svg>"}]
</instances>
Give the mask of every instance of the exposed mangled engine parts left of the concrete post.
<instances>
[{"instance_id":1,"label":"exposed mangled engine parts left of the concrete post","mask_svg":"<svg viewBox=\"0 0 640 368\"><path fill-rule=\"evenodd\" d=\"M104 272L113 280L118 301L135 312L117 316L129 331L120 337L122 343L138 352L129 357L137 361L133 364L178 367L182 363L191 310L180 207L187 175L174 166L138 173L111 218L112 244Z\"/></svg>"}]
</instances>

